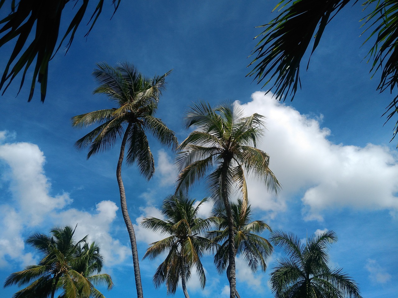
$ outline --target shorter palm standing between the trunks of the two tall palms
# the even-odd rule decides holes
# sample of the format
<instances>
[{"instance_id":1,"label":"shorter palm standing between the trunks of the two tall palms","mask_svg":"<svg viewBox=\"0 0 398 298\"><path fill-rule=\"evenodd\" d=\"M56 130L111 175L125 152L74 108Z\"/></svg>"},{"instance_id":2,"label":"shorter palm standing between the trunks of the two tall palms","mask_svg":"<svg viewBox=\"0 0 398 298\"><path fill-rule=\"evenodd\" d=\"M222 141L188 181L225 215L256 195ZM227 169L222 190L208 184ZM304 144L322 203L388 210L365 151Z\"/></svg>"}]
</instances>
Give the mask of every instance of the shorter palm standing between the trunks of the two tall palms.
<instances>
[{"instance_id":1,"label":"shorter palm standing between the trunks of the two tall palms","mask_svg":"<svg viewBox=\"0 0 398 298\"><path fill-rule=\"evenodd\" d=\"M195 200L185 196L167 197L160 209L166 217L165 220L154 217L145 218L141 225L156 232L169 235L163 240L150 244L144 258L154 259L168 251L166 259L156 270L153 281L156 287L166 283L167 293L174 294L178 281L181 279L185 298L189 298L186 282L191 276L191 268L196 267L202 288L205 287L205 271L200 258L212 242L200 236L210 229L211 219L197 216L199 207L206 201L203 199L197 207Z\"/></svg>"}]
</instances>

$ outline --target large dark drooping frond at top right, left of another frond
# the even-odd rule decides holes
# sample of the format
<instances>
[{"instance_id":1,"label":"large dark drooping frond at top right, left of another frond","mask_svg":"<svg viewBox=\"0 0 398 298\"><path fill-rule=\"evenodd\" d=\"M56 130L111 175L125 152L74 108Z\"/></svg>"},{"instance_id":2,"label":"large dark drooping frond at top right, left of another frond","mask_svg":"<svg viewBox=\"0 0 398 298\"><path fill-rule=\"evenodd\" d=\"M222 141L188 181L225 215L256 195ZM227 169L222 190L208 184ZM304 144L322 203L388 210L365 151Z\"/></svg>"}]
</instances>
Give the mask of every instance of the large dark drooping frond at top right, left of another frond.
<instances>
[{"instance_id":1,"label":"large dark drooping frond at top right, left of another frond","mask_svg":"<svg viewBox=\"0 0 398 298\"><path fill-rule=\"evenodd\" d=\"M249 64L253 70L247 76L254 75L253 80L257 83L266 79L263 87L273 80L269 91L273 90L279 100L285 101L289 94L293 100L301 84L300 62L312 37L315 39L311 54L318 46L328 22L348 2L350 0L281 1L278 6L285 3L281 9L287 8L270 23L259 26L265 29L256 37L261 40L252 52L256 58Z\"/></svg>"}]
</instances>

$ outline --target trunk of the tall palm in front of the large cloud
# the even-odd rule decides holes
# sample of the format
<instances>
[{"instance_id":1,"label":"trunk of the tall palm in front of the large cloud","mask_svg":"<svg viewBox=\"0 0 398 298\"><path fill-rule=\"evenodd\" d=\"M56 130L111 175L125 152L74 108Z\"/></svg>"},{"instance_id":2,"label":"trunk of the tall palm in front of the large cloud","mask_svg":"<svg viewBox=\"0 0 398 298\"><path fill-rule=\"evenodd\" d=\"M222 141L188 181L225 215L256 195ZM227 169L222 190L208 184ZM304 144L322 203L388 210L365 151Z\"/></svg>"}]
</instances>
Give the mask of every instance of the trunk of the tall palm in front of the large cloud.
<instances>
[{"instance_id":1,"label":"trunk of the tall palm in front of the large cloud","mask_svg":"<svg viewBox=\"0 0 398 298\"><path fill-rule=\"evenodd\" d=\"M234 241L234 222L232 217L231 205L228 199L228 186L226 182L226 176L228 167L232 158L224 158L221 170L221 196L224 202L226 216L228 218L228 248L229 248L229 288L230 298L235 298L236 293L236 278L235 278L235 241Z\"/></svg>"}]
</instances>

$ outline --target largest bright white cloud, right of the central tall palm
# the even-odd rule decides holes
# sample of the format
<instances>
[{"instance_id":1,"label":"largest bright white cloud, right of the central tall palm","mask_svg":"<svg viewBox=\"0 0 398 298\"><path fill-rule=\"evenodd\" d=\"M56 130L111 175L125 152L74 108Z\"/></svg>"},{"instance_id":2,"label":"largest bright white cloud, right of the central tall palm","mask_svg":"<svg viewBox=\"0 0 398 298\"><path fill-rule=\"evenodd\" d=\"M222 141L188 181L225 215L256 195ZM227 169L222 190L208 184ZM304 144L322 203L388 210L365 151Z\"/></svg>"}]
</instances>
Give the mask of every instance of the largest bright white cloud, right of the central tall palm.
<instances>
[{"instance_id":1,"label":"largest bright white cloud, right of the central tall palm","mask_svg":"<svg viewBox=\"0 0 398 298\"><path fill-rule=\"evenodd\" d=\"M302 115L263 92L254 93L252 99L243 107L247 114L266 116L267 130L259 147L269 153L270 168L283 185L276 198L251 180L254 207L283 211L287 200L304 190L306 219L322 220L322 211L330 208L398 210L398 163L390 149L336 145L328 140L330 130L320 126L319 118Z\"/></svg>"}]
</instances>

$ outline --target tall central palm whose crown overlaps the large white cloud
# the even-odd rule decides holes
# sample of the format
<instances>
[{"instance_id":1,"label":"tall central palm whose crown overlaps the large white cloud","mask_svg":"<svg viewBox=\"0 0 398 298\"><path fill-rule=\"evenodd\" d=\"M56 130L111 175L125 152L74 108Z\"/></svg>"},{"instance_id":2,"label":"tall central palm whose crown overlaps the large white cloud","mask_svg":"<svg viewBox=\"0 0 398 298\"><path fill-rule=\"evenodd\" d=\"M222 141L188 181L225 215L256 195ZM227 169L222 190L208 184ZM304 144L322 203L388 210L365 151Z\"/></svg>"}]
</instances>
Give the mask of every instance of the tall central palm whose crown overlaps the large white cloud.
<instances>
[{"instance_id":1,"label":"tall central palm whose crown overlaps the large white cloud","mask_svg":"<svg viewBox=\"0 0 398 298\"><path fill-rule=\"evenodd\" d=\"M230 298L235 298L236 288L234 221L230 195L236 187L242 192L243 215L248 204L245 171L261 179L275 194L280 188L268 167L269 156L256 148L262 133L262 118L257 113L243 117L238 102L226 102L214 109L208 103L194 104L183 121L187 129L195 126L197 130L191 132L179 145L176 157L176 165L180 170L176 193L179 190L187 191L206 177L210 198L215 203L224 205L228 217Z\"/></svg>"}]
</instances>

